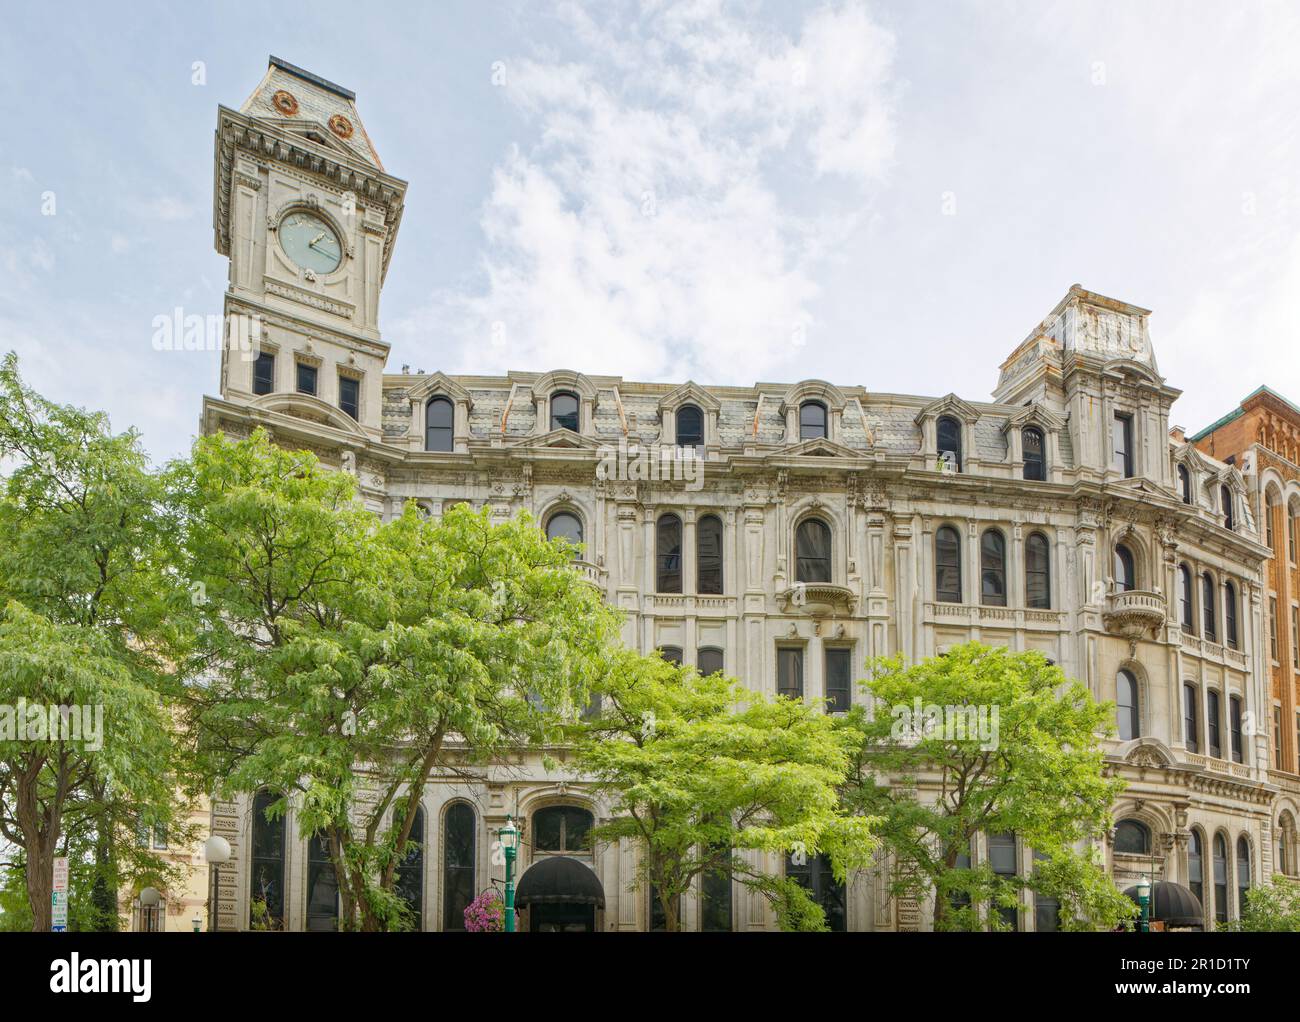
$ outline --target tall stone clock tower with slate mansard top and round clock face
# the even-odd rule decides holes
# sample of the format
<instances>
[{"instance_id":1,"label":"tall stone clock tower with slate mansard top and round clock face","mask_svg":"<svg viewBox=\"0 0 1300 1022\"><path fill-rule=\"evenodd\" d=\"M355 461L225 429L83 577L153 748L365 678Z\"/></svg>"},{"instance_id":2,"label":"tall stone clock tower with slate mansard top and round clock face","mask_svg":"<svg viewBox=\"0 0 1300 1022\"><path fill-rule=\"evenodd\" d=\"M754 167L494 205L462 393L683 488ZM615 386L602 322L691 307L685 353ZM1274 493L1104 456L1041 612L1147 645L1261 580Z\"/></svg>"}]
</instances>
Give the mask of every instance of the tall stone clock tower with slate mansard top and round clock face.
<instances>
[{"instance_id":1,"label":"tall stone clock tower with slate mansard top and round clock face","mask_svg":"<svg viewBox=\"0 0 1300 1022\"><path fill-rule=\"evenodd\" d=\"M230 277L221 399L205 402L204 432L239 406L239 419L344 464L382 438L380 293L406 187L355 94L278 57L238 111L218 108L213 229Z\"/></svg>"}]
</instances>

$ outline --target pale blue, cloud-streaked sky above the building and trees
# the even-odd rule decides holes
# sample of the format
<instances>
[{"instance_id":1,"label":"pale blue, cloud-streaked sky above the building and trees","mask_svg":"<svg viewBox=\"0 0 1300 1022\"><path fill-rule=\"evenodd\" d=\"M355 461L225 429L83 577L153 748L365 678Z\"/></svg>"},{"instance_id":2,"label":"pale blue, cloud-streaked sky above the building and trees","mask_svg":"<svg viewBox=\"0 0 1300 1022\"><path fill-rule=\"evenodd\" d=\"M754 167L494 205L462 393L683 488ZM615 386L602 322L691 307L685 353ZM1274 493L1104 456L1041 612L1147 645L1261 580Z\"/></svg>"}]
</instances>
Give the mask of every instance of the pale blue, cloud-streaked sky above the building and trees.
<instances>
[{"instance_id":1,"label":"pale blue, cloud-streaked sky above the building and trees","mask_svg":"<svg viewBox=\"0 0 1300 1022\"><path fill-rule=\"evenodd\" d=\"M182 455L217 105L268 55L408 181L389 369L984 400L1072 283L1153 309L1173 420L1300 402L1300 0L10 5L0 351Z\"/></svg>"}]
</instances>

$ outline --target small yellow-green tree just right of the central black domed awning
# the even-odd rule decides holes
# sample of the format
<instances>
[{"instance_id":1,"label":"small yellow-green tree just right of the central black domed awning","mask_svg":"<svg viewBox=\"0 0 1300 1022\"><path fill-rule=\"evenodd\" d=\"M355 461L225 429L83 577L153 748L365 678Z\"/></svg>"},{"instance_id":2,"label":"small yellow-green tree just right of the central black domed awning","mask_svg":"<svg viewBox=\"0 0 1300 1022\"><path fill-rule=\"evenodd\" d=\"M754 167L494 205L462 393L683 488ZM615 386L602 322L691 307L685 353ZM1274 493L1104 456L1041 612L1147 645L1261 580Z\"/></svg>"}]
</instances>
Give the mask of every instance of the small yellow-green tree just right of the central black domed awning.
<instances>
[{"instance_id":1,"label":"small yellow-green tree just right of the central black domed awning","mask_svg":"<svg viewBox=\"0 0 1300 1022\"><path fill-rule=\"evenodd\" d=\"M767 897L784 928L824 928L802 888L738 853L827 853L841 882L870 865L871 819L837 800L849 733L802 701L627 649L611 650L602 688L601 714L576 728L575 768L614 814L592 837L641 844L666 928L680 927L680 897L710 874Z\"/></svg>"}]
</instances>

